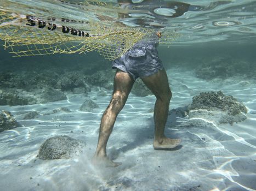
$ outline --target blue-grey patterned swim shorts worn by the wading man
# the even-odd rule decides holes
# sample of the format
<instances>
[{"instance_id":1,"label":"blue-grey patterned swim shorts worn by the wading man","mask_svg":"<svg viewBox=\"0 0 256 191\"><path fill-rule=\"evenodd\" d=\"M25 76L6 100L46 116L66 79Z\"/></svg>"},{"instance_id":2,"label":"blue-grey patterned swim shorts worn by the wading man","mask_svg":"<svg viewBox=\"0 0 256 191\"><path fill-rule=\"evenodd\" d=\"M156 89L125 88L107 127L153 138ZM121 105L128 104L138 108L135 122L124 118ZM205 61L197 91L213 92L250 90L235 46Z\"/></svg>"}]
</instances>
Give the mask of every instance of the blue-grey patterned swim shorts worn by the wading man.
<instances>
[{"instance_id":1,"label":"blue-grey patterned swim shorts worn by the wading man","mask_svg":"<svg viewBox=\"0 0 256 191\"><path fill-rule=\"evenodd\" d=\"M129 73L134 80L138 77L150 76L163 69L154 43L136 43L124 55L115 59L113 69L120 69Z\"/></svg>"}]
</instances>

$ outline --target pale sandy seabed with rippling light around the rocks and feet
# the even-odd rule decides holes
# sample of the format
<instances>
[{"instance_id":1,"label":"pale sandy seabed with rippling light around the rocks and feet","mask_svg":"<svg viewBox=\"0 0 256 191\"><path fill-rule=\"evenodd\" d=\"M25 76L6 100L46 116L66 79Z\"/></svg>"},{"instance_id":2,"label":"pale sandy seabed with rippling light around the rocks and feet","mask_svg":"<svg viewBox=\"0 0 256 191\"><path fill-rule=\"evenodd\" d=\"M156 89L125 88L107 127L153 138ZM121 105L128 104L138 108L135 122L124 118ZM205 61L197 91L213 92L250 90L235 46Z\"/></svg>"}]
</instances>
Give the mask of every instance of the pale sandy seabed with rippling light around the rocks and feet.
<instances>
[{"instance_id":1,"label":"pale sandy seabed with rippling light around the rocks and feet","mask_svg":"<svg viewBox=\"0 0 256 191\"><path fill-rule=\"evenodd\" d=\"M100 108L81 112L86 99L44 105L0 106L9 110L23 127L0 134L0 190L256 190L256 88L240 79L197 79L191 71L168 70L173 98L170 109L185 106L202 91L223 91L247 106L247 120L218 127L172 126L166 134L181 138L182 147L155 151L153 108L155 97L130 94L118 116L107 145L117 168L96 169L90 163L98 141L100 118L111 98L89 93ZM43 115L66 107L71 112ZM39 111L35 120L22 120L25 111ZM177 118L177 122L186 122ZM71 133L71 131L73 133ZM86 142L84 153L73 159L40 160L39 146L54 135L68 135Z\"/></svg>"}]
</instances>

